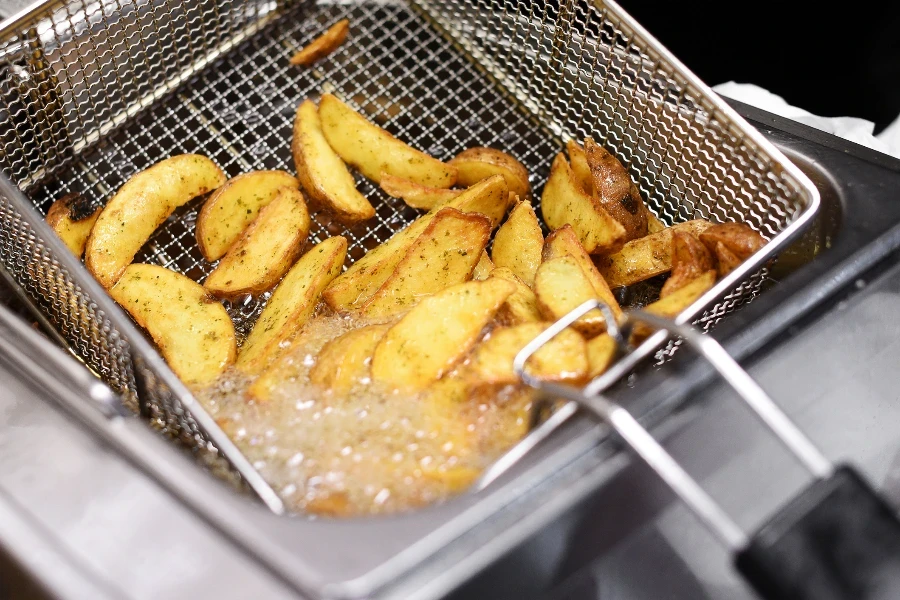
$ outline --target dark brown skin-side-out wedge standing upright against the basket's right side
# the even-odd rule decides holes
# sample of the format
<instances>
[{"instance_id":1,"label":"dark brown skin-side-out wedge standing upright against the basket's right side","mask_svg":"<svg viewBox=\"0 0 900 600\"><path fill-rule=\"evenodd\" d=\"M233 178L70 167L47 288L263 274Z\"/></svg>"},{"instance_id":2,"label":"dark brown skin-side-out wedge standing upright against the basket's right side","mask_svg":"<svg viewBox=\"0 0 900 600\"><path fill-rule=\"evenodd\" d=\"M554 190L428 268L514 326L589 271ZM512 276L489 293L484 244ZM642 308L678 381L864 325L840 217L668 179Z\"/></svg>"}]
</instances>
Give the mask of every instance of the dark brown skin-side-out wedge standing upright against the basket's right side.
<instances>
[{"instance_id":1,"label":"dark brown skin-side-out wedge standing upright against the basket's right side","mask_svg":"<svg viewBox=\"0 0 900 600\"><path fill-rule=\"evenodd\" d=\"M647 235L644 200L624 165L591 138L585 138L584 152L594 182L594 196L606 212L625 228L624 241Z\"/></svg>"}]
</instances>

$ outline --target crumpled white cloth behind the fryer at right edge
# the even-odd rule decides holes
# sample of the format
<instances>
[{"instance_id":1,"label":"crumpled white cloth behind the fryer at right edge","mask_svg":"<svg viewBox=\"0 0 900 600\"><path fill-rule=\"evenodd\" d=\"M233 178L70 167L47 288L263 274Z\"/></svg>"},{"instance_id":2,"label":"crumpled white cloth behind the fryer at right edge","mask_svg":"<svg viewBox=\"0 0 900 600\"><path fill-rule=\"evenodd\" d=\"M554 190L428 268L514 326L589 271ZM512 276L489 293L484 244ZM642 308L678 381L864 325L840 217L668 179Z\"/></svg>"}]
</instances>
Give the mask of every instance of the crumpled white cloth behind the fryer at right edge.
<instances>
[{"instance_id":1,"label":"crumpled white cloth behind the fryer at right edge","mask_svg":"<svg viewBox=\"0 0 900 600\"><path fill-rule=\"evenodd\" d=\"M781 96L750 83L729 81L713 86L713 90L723 96L900 158L900 117L878 135L872 135L875 124L871 121L856 117L819 117L791 106Z\"/></svg>"}]
</instances>

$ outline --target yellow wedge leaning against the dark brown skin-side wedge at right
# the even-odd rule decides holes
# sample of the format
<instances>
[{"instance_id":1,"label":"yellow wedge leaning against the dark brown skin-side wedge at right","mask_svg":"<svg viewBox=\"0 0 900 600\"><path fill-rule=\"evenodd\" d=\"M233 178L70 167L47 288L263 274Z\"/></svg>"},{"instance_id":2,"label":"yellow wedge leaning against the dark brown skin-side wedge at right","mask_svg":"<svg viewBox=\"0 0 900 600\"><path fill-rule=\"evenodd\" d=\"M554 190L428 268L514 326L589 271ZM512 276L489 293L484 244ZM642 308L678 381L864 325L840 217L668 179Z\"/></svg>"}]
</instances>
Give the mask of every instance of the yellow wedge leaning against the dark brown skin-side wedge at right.
<instances>
[{"instance_id":1,"label":"yellow wedge leaning against the dark brown skin-side wedge at right","mask_svg":"<svg viewBox=\"0 0 900 600\"><path fill-rule=\"evenodd\" d=\"M566 157L557 154L541 197L541 214L552 230L569 224L588 254L606 252L625 241L625 228L586 194L576 181Z\"/></svg>"}]
</instances>

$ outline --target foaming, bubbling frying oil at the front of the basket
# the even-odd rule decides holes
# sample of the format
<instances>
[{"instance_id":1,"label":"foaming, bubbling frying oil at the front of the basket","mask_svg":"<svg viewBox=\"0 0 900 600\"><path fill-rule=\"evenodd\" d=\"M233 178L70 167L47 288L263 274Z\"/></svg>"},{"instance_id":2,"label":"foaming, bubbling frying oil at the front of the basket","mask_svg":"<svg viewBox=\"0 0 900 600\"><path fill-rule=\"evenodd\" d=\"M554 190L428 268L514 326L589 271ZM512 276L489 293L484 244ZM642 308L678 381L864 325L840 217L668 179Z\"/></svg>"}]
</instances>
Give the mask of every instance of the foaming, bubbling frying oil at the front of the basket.
<instances>
[{"instance_id":1,"label":"foaming, bubbling frying oil at the front of the basket","mask_svg":"<svg viewBox=\"0 0 900 600\"><path fill-rule=\"evenodd\" d=\"M265 400L232 369L198 399L292 512L383 514L464 490L524 433L530 392L471 388L458 371L418 395L366 377L347 393L310 383L323 346L368 323L320 309L278 359Z\"/></svg>"}]
</instances>

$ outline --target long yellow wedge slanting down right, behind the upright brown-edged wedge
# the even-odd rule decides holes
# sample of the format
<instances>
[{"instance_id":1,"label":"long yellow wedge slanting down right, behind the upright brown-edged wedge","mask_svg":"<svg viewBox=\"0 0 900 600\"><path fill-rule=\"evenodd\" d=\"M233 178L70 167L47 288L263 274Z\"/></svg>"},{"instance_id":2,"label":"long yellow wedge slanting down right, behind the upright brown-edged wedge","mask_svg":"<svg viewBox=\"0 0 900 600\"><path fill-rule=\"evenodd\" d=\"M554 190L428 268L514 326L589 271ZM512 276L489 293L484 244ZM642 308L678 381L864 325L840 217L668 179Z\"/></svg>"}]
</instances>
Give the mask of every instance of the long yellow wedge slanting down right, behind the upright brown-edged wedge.
<instances>
[{"instance_id":1,"label":"long yellow wedge slanting down right, behind the upright brown-edged wedge","mask_svg":"<svg viewBox=\"0 0 900 600\"><path fill-rule=\"evenodd\" d=\"M322 95L319 118L334 151L372 181L387 173L428 187L456 183L456 167L404 144L331 94Z\"/></svg>"}]
</instances>

